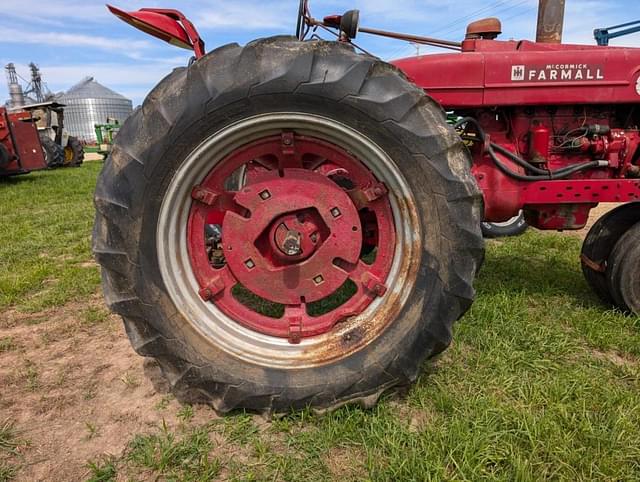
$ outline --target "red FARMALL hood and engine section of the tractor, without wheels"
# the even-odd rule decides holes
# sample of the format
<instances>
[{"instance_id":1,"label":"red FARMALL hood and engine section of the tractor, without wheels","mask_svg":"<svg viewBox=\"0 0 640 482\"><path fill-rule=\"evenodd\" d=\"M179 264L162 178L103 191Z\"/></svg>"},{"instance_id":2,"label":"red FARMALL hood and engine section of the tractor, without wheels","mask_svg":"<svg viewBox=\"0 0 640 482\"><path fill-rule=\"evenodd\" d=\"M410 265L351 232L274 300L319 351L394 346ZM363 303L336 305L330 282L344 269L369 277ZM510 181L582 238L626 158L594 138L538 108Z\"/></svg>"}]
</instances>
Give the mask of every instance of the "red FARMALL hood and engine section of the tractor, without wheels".
<instances>
[{"instance_id":1,"label":"red FARMALL hood and engine section of the tractor, without wheels","mask_svg":"<svg viewBox=\"0 0 640 482\"><path fill-rule=\"evenodd\" d=\"M477 119L491 142L542 169L603 161L562 180L520 180L474 145L486 220L524 209L537 228L580 229L595 204L640 199L640 49L480 39L464 41L462 53L394 64L446 110Z\"/></svg>"}]
</instances>

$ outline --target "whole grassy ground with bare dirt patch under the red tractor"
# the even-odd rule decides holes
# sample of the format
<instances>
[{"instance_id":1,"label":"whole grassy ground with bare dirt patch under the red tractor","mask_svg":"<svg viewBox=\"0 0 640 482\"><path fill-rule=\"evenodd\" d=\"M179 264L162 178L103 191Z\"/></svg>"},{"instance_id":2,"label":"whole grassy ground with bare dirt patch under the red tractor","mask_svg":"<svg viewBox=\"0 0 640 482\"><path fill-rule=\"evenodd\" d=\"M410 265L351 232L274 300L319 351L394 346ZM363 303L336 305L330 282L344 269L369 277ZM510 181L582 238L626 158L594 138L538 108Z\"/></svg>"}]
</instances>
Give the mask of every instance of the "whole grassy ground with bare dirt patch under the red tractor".
<instances>
[{"instance_id":1,"label":"whole grassy ground with bare dirt patch under the red tractor","mask_svg":"<svg viewBox=\"0 0 640 482\"><path fill-rule=\"evenodd\" d=\"M640 479L640 320L591 294L577 237L490 242L454 345L408 393L322 417L218 418L152 388L96 295L99 167L0 181L0 481ZM82 351L92 339L105 348ZM86 376L47 370L38 357L56 350ZM92 389L87 367L116 354L132 361ZM68 425L64 443L42 424Z\"/></svg>"}]
</instances>

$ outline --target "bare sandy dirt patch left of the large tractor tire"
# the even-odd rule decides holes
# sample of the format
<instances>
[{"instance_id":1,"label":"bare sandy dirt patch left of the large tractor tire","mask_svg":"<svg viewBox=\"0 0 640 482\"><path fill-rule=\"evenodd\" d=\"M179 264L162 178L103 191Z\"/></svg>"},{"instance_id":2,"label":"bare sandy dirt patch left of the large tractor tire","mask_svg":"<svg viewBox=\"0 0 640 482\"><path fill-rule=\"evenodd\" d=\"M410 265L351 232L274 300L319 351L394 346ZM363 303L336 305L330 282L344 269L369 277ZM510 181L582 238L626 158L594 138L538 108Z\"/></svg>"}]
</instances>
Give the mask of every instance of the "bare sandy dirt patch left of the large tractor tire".
<instances>
[{"instance_id":1,"label":"bare sandy dirt patch left of the large tractor tire","mask_svg":"<svg viewBox=\"0 0 640 482\"><path fill-rule=\"evenodd\" d=\"M180 405L157 390L159 369L134 353L101 297L0 320L11 340L0 351L0 419L29 441L16 480L83 480L88 460L119 455L163 420L177 423ZM198 417L216 418L206 408Z\"/></svg>"}]
</instances>

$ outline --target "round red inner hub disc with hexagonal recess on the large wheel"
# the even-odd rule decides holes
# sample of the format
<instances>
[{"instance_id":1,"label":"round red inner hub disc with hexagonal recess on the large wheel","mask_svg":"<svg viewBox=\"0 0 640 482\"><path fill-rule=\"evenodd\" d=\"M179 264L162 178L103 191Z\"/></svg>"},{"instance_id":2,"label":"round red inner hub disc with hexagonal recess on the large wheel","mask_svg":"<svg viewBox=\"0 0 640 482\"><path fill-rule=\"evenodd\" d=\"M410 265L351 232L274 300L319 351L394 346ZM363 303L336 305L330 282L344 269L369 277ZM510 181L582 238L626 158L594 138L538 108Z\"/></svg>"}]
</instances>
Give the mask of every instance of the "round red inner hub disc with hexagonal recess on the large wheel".
<instances>
[{"instance_id":1,"label":"round red inner hub disc with hexagonal recess on the large wheel","mask_svg":"<svg viewBox=\"0 0 640 482\"><path fill-rule=\"evenodd\" d=\"M316 172L268 171L234 198L250 213L227 213L224 253L233 275L260 297L285 305L329 296L356 264L360 217L349 196ZM313 241L315 239L315 243Z\"/></svg>"}]
</instances>

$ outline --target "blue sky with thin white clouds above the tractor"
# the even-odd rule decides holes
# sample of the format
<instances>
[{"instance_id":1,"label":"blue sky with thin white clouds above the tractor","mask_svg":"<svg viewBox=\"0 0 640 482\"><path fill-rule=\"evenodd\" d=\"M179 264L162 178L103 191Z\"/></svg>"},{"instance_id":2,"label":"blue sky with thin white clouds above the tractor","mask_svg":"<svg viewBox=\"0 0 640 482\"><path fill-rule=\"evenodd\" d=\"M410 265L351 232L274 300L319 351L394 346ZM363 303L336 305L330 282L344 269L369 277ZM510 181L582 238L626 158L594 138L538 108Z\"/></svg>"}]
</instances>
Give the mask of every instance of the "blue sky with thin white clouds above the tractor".
<instances>
[{"instance_id":1,"label":"blue sky with thin white clouds above the tractor","mask_svg":"<svg viewBox=\"0 0 640 482\"><path fill-rule=\"evenodd\" d=\"M228 42L292 33L298 0L112 0L125 10L165 7L182 10L213 48ZM472 19L498 16L502 38L533 39L538 0L312 0L315 17L361 10L362 25L459 40ZM189 58L113 17L93 0L0 0L0 65L13 62L28 77L35 62L48 87L66 90L86 76L142 101L153 85ZM640 19L637 0L567 0L566 42L593 44L595 27ZM412 55L415 47L393 40L363 38L363 47L385 59ZM640 34L612 42L640 47ZM421 50L426 52L425 49ZM4 77L4 76L3 76ZM0 104L7 98L0 78Z\"/></svg>"}]
</instances>

